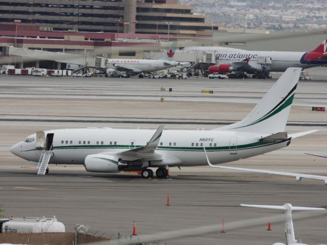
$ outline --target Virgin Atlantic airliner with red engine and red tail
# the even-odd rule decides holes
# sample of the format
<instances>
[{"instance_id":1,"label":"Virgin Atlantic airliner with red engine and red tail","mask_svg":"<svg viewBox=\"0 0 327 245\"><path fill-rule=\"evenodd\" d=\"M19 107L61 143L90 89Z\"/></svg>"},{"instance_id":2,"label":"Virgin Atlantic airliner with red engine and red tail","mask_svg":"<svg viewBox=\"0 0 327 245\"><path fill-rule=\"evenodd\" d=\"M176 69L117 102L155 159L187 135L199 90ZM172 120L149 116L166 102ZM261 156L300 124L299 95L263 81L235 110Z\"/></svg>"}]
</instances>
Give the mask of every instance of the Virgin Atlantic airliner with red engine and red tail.
<instances>
[{"instance_id":1,"label":"Virgin Atlantic airliner with red engine and red tail","mask_svg":"<svg viewBox=\"0 0 327 245\"><path fill-rule=\"evenodd\" d=\"M271 71L285 71L289 67L302 69L327 64L327 39L311 52L246 51L230 47L190 46L183 52L216 53L216 65L210 66L209 73L236 72L240 77L253 74L266 78Z\"/></svg>"}]
</instances>

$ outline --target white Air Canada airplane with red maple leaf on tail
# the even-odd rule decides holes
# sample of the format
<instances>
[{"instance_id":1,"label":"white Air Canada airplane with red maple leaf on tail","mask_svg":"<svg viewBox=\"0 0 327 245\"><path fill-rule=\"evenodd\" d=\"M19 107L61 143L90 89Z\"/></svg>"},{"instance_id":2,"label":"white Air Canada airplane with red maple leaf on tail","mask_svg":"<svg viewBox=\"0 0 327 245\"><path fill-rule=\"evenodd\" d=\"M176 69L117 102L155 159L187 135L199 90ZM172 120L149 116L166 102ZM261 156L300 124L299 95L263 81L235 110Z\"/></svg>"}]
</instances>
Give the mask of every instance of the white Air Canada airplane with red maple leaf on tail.
<instances>
[{"instance_id":1,"label":"white Air Canada airplane with red maple leaf on tail","mask_svg":"<svg viewBox=\"0 0 327 245\"><path fill-rule=\"evenodd\" d=\"M174 61L174 55L174 49L170 48L159 60L107 59L106 73L108 77L114 75L115 72L125 72L128 77L138 75L139 78L143 78L146 72L163 70L179 65L179 62Z\"/></svg>"}]
</instances>

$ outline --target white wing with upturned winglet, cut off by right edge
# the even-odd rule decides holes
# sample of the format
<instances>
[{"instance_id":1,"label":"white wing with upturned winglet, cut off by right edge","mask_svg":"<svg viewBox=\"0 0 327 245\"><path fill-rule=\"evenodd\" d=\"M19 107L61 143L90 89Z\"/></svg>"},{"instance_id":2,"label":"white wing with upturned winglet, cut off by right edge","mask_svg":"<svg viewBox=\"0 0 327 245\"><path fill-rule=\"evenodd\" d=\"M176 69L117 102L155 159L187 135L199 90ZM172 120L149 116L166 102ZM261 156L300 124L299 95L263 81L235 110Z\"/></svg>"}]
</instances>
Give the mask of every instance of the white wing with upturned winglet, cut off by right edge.
<instances>
[{"instance_id":1,"label":"white wing with upturned winglet, cut off by right edge","mask_svg":"<svg viewBox=\"0 0 327 245\"><path fill-rule=\"evenodd\" d=\"M211 166L211 167L224 168L224 169L230 169L230 170L246 171L246 172L252 172L252 173L270 174L270 175L292 176L292 177L296 178L296 181L301 181L302 178L314 179L314 180L323 180L325 185L327 185L327 176L307 175L307 174L297 174L297 173L279 172L279 171L262 170L262 169L252 169L252 168L228 167L228 166L213 165L209 161L209 158L208 158L208 155L207 155L205 149L204 149L204 153L205 153L205 157L206 157L206 160L208 162L208 165Z\"/></svg>"}]
</instances>

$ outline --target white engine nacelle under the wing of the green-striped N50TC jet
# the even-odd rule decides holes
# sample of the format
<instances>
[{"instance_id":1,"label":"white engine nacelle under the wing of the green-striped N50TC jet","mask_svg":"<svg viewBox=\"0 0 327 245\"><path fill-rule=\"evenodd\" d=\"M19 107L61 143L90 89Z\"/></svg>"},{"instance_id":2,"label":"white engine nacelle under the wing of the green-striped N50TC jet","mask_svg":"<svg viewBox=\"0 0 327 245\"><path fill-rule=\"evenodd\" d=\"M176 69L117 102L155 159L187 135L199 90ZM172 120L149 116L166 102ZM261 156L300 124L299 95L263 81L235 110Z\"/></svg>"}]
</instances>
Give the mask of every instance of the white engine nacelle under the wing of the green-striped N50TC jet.
<instances>
[{"instance_id":1,"label":"white engine nacelle under the wing of the green-striped N50TC jet","mask_svg":"<svg viewBox=\"0 0 327 245\"><path fill-rule=\"evenodd\" d=\"M88 172L116 173L127 167L127 164L120 163L119 156L93 154L85 158L84 167Z\"/></svg>"}]
</instances>

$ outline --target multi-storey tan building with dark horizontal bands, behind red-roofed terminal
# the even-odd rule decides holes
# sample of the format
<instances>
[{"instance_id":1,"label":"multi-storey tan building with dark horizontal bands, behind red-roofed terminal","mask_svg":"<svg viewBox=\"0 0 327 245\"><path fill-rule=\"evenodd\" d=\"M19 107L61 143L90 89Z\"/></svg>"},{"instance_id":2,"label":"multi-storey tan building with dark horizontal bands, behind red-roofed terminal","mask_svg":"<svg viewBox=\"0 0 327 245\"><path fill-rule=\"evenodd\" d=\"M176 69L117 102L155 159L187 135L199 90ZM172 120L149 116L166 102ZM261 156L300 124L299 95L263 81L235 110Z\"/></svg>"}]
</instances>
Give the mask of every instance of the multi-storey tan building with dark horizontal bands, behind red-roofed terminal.
<instances>
[{"instance_id":1,"label":"multi-storey tan building with dark horizontal bands, behind red-roofed terminal","mask_svg":"<svg viewBox=\"0 0 327 245\"><path fill-rule=\"evenodd\" d=\"M178 0L2 0L0 13L0 23L19 20L44 31L211 37L218 29Z\"/></svg>"}]
</instances>

